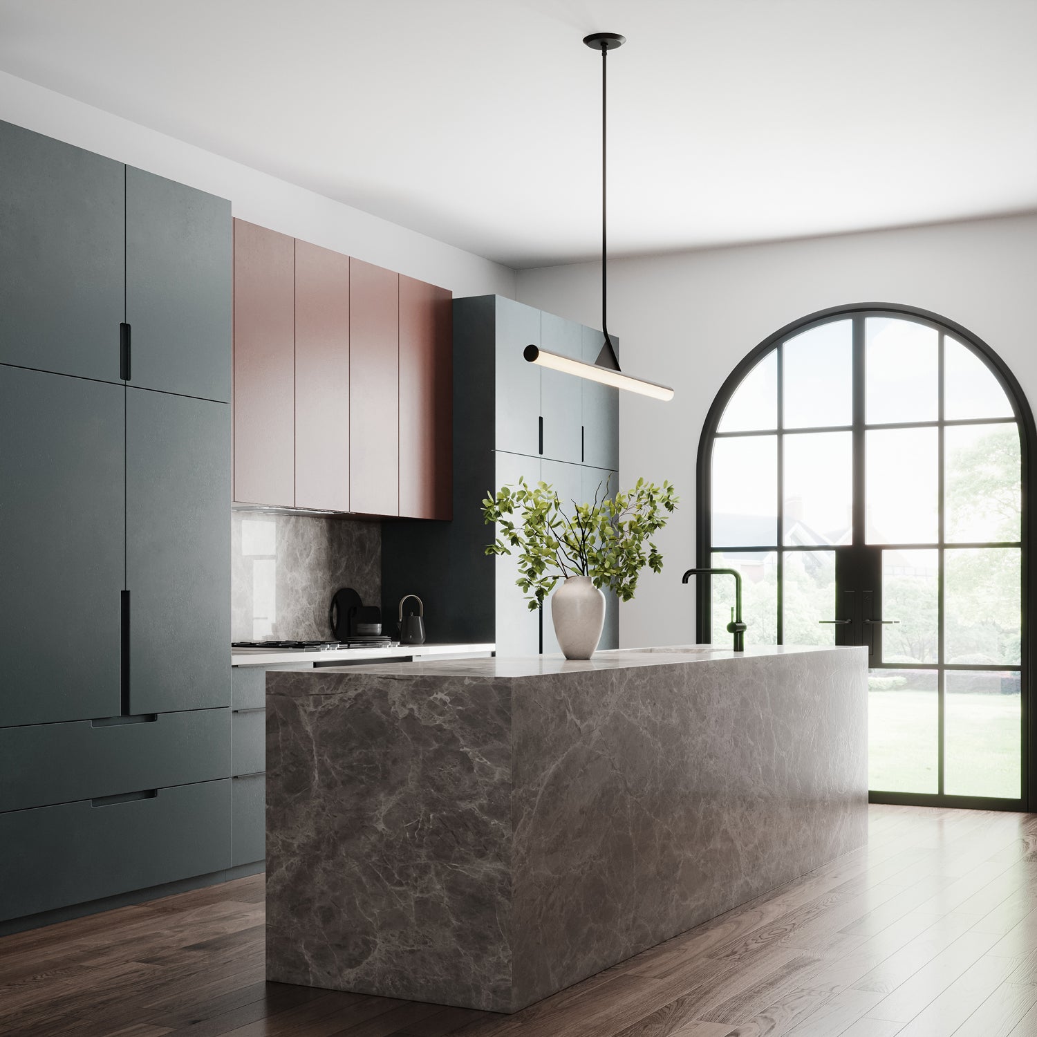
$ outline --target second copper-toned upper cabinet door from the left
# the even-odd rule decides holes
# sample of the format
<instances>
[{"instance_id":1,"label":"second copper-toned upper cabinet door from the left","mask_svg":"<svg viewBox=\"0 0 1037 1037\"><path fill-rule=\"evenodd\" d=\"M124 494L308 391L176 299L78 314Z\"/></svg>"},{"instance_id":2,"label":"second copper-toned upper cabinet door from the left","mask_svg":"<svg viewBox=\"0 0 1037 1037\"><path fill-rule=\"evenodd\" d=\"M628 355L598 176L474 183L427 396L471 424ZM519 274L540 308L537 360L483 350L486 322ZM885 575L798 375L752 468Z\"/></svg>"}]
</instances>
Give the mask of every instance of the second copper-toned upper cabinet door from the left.
<instances>
[{"instance_id":1,"label":"second copper-toned upper cabinet door from the left","mask_svg":"<svg viewBox=\"0 0 1037 1037\"><path fill-rule=\"evenodd\" d=\"M349 510L349 257L298 240L296 507Z\"/></svg>"}]
</instances>

